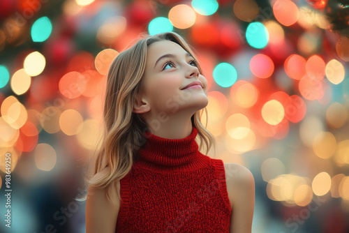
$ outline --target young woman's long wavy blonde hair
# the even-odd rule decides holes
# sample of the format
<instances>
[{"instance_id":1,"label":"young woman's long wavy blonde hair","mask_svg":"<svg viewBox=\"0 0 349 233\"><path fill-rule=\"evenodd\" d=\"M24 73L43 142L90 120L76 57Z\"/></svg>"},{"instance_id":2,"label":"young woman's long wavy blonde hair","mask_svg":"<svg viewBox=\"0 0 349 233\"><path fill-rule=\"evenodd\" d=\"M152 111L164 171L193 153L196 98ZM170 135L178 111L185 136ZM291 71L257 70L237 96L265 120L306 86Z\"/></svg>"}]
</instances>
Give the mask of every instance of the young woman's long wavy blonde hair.
<instances>
[{"instance_id":1,"label":"young woman's long wavy blonde hair","mask_svg":"<svg viewBox=\"0 0 349 233\"><path fill-rule=\"evenodd\" d=\"M107 199L112 202L114 202L112 197L117 190L116 181L128 174L133 165L133 155L146 141L144 132L148 130L147 123L133 112L133 103L142 90L147 49L152 43L161 40L170 40L181 45L186 52L195 58L191 47L179 34L174 32L159 33L154 36L146 36L138 40L128 50L121 52L112 62L107 74L101 147L96 155L94 171L91 174L94 179L86 181L91 186L107 188ZM200 65L198 65L198 69L202 73ZM207 154L215 142L214 136L200 121L204 111L207 115L206 108L195 112L191 117L191 122L198 129L199 150L205 144ZM96 176L96 174L98 175ZM121 200L119 192L117 195ZM86 200L86 196L82 200Z\"/></svg>"}]
</instances>

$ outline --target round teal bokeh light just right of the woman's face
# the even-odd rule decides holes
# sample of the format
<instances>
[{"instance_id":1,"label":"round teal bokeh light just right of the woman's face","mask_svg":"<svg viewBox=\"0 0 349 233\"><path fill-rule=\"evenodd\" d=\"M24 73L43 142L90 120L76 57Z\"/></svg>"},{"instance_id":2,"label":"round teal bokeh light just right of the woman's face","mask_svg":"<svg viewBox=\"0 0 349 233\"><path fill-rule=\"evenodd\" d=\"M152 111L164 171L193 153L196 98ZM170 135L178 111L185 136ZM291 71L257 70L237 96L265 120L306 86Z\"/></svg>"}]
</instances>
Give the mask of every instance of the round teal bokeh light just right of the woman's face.
<instances>
[{"instance_id":1,"label":"round teal bokeh light just right of the woman's face","mask_svg":"<svg viewBox=\"0 0 349 233\"><path fill-rule=\"evenodd\" d=\"M229 63L219 63L214 68L214 81L221 87L231 87L237 82L237 70Z\"/></svg>"}]
</instances>

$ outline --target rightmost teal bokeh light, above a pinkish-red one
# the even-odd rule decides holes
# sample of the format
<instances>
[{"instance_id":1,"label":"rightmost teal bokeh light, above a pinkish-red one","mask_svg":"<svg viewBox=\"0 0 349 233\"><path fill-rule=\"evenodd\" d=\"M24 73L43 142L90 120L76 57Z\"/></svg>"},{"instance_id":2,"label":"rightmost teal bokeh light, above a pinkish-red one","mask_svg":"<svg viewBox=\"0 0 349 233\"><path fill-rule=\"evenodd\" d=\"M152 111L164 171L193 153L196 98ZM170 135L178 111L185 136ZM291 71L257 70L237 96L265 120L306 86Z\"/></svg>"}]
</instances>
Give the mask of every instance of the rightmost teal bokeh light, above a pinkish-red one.
<instances>
[{"instance_id":1,"label":"rightmost teal bokeh light, above a pinkish-red one","mask_svg":"<svg viewBox=\"0 0 349 233\"><path fill-rule=\"evenodd\" d=\"M262 23L253 22L246 29L246 40L252 47L262 49L268 44L269 33Z\"/></svg>"}]
</instances>

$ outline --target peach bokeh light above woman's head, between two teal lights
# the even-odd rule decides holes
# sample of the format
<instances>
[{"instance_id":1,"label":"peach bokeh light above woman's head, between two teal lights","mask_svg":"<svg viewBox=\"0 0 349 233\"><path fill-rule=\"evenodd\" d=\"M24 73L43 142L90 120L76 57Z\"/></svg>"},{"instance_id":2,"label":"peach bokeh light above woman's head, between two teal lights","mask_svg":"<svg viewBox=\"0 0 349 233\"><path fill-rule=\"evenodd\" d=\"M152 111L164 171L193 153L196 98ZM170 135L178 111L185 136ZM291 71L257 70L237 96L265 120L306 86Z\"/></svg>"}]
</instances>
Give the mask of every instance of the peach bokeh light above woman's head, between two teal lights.
<instances>
[{"instance_id":1,"label":"peach bokeh light above woman's head, between two teal lights","mask_svg":"<svg viewBox=\"0 0 349 233\"><path fill-rule=\"evenodd\" d=\"M190 6L180 4L170 10L168 19L177 29L187 29L195 24L196 14Z\"/></svg>"}]
</instances>

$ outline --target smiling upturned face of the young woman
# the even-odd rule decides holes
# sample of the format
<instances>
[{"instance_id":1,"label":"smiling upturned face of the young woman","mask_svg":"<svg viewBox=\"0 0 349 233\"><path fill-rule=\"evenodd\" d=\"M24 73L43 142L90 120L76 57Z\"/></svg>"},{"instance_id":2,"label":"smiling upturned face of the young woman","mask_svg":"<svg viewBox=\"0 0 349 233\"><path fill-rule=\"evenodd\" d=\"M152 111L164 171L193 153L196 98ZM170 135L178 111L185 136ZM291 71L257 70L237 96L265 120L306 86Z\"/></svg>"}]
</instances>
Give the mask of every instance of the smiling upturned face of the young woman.
<instances>
[{"instance_id":1,"label":"smiling upturned face of the young woman","mask_svg":"<svg viewBox=\"0 0 349 233\"><path fill-rule=\"evenodd\" d=\"M207 80L200 75L196 64L191 54L170 40L149 45L143 97L151 111L170 114L193 110L195 113L206 107ZM199 85L184 89L192 82Z\"/></svg>"}]
</instances>

